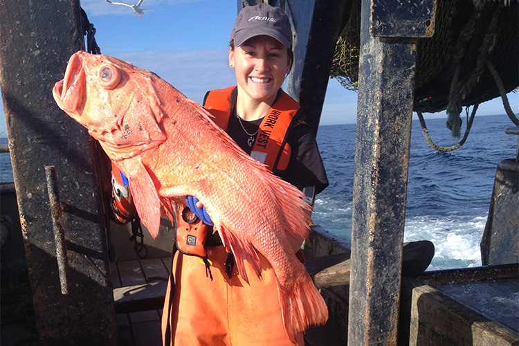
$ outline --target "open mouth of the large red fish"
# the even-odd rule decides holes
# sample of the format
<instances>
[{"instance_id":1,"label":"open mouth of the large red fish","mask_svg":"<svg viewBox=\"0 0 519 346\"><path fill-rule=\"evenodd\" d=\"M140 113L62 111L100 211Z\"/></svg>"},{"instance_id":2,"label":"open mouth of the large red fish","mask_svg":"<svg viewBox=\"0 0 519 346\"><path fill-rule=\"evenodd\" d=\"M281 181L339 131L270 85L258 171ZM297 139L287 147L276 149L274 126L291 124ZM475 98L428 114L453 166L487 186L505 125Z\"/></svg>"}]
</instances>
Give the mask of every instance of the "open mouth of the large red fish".
<instances>
[{"instance_id":1,"label":"open mouth of the large red fish","mask_svg":"<svg viewBox=\"0 0 519 346\"><path fill-rule=\"evenodd\" d=\"M66 113L82 109L86 100L86 75L80 52L71 56L65 76L54 85L53 96L57 105Z\"/></svg>"}]
</instances>

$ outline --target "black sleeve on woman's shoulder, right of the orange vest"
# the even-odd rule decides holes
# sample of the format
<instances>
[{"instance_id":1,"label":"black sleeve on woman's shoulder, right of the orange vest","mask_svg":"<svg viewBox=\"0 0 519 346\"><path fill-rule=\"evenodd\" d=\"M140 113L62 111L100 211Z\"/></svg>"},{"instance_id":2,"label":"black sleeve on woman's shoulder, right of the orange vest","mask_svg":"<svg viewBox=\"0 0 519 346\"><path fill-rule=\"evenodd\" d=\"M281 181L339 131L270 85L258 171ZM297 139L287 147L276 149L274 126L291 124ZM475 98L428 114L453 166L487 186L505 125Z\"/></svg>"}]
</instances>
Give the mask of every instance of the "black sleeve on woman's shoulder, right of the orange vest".
<instances>
[{"instance_id":1,"label":"black sleeve on woman's shoulder, right of the orange vest","mask_svg":"<svg viewBox=\"0 0 519 346\"><path fill-rule=\"evenodd\" d=\"M289 165L280 177L302 190L315 186L316 194L325 190L328 179L316 138L304 122L296 124L288 140L292 149Z\"/></svg>"}]
</instances>

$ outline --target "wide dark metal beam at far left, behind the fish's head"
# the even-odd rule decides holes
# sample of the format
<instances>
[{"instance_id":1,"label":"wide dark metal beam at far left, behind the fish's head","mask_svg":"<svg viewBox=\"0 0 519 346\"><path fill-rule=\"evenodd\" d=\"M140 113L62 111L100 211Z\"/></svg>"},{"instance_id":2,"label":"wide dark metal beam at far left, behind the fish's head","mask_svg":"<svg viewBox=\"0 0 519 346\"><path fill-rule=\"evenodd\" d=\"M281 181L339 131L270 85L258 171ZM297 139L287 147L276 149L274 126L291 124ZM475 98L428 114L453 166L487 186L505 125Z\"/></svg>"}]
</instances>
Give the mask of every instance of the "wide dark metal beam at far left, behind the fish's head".
<instances>
[{"instance_id":1,"label":"wide dark metal beam at far left, behind the fish's head","mask_svg":"<svg viewBox=\"0 0 519 346\"><path fill-rule=\"evenodd\" d=\"M93 143L52 88L84 49L77 0L0 1L0 85L41 345L116 345ZM67 241L62 295L45 166L56 167Z\"/></svg>"}]
</instances>

